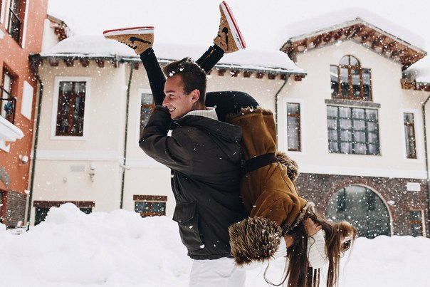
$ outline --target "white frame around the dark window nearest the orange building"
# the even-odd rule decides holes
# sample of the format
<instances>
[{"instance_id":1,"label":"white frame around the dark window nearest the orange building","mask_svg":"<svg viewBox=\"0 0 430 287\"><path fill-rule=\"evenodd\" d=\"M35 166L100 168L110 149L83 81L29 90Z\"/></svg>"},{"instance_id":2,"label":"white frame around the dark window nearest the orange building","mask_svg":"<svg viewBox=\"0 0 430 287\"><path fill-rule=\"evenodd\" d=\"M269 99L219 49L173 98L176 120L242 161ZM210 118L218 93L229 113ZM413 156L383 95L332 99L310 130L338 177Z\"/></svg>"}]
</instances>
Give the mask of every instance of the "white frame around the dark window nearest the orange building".
<instances>
[{"instance_id":1,"label":"white frame around the dark window nearest the orange building","mask_svg":"<svg viewBox=\"0 0 430 287\"><path fill-rule=\"evenodd\" d=\"M60 92L60 82L86 82L85 83L85 111L83 114L84 125L82 137L70 135L56 135L57 113L58 113L58 93ZM88 130L90 125L90 91L91 91L91 78L90 77L68 77L57 76L54 80L53 90L53 108L51 115L51 140L87 140Z\"/></svg>"}]
</instances>

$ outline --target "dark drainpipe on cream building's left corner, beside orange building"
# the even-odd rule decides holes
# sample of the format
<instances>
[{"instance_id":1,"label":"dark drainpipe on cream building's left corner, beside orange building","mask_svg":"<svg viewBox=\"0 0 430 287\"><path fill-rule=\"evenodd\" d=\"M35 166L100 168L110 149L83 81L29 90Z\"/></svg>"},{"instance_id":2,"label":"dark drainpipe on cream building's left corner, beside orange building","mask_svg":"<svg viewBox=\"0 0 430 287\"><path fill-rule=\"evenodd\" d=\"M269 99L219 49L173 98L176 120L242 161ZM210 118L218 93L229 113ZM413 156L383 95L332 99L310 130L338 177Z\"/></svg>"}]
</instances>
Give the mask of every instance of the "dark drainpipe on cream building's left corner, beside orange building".
<instances>
[{"instance_id":1,"label":"dark drainpipe on cream building's left corner, beside orange building","mask_svg":"<svg viewBox=\"0 0 430 287\"><path fill-rule=\"evenodd\" d=\"M28 57L31 62L31 70L33 71L39 83L39 98L38 98L38 104L37 104L36 127L34 129L33 161L31 162L30 192L28 194L27 225L29 225L30 218L31 218L31 202L33 201L34 173L36 171L38 135L39 135L39 127L41 123L41 109L42 109L42 98L43 98L43 83L36 68L36 60L38 60L39 56L40 56L39 54L34 54Z\"/></svg>"}]
</instances>

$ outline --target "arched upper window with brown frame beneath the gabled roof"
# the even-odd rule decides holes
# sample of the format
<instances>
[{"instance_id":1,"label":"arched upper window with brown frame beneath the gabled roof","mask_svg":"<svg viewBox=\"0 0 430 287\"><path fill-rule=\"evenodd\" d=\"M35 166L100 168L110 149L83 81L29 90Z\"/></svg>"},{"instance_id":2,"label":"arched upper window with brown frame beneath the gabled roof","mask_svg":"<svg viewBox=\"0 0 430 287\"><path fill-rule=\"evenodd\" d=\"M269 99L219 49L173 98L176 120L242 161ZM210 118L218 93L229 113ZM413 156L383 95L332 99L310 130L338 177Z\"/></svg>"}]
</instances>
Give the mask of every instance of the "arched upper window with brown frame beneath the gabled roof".
<instances>
[{"instance_id":1,"label":"arched upper window with brown frame beneath the gabled roof","mask_svg":"<svg viewBox=\"0 0 430 287\"><path fill-rule=\"evenodd\" d=\"M362 68L354 56L344 56L330 66L332 98L372 100L370 69Z\"/></svg>"}]
</instances>

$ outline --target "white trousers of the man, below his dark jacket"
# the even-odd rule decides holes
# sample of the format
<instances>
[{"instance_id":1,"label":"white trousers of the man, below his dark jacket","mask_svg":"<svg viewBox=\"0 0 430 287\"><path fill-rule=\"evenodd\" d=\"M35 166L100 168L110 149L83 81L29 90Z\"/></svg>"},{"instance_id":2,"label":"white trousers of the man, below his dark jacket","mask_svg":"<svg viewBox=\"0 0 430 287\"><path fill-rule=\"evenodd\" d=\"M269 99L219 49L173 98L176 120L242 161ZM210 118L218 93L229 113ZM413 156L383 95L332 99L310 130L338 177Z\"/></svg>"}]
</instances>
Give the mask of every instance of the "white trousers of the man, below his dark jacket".
<instances>
[{"instance_id":1,"label":"white trousers of the man, below his dark jacket","mask_svg":"<svg viewBox=\"0 0 430 287\"><path fill-rule=\"evenodd\" d=\"M243 287L245 279L246 270L231 258L193 260L189 287Z\"/></svg>"}]
</instances>

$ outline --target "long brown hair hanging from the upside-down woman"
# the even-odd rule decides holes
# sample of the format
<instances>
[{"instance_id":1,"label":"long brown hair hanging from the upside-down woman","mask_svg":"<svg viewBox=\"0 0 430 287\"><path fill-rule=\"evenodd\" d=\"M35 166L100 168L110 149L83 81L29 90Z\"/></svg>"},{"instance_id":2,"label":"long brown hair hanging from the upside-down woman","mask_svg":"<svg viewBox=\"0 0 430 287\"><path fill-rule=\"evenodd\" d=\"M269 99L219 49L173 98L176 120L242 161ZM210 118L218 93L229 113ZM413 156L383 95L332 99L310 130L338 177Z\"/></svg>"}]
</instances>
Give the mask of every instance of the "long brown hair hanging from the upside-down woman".
<instances>
[{"instance_id":1,"label":"long brown hair hanging from the upside-down woman","mask_svg":"<svg viewBox=\"0 0 430 287\"><path fill-rule=\"evenodd\" d=\"M325 232L325 251L329 261L327 287L337 286L340 258L355 241L357 229L346 221L329 221L314 212L308 213L306 217L322 226ZM286 274L282 282L288 279L288 287L318 286L319 284L319 273L309 270L308 236L303 221L288 232L294 237L294 244L287 249Z\"/></svg>"}]
</instances>

